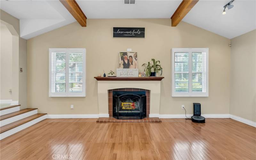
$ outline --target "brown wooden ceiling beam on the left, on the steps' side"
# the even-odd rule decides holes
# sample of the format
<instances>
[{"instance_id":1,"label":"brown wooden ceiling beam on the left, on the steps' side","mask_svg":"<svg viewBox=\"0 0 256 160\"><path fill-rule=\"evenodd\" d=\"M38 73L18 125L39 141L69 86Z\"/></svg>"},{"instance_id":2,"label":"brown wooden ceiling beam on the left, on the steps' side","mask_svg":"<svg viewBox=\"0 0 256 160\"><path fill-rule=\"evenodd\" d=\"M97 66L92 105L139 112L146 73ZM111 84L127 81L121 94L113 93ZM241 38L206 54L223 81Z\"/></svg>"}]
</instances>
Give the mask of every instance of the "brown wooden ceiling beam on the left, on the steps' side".
<instances>
[{"instance_id":1,"label":"brown wooden ceiling beam on the left, on the steps' side","mask_svg":"<svg viewBox=\"0 0 256 160\"><path fill-rule=\"evenodd\" d=\"M60 0L60 2L67 8L68 12L72 14L82 27L86 27L87 17L84 15L84 12L75 0Z\"/></svg>"}]
</instances>

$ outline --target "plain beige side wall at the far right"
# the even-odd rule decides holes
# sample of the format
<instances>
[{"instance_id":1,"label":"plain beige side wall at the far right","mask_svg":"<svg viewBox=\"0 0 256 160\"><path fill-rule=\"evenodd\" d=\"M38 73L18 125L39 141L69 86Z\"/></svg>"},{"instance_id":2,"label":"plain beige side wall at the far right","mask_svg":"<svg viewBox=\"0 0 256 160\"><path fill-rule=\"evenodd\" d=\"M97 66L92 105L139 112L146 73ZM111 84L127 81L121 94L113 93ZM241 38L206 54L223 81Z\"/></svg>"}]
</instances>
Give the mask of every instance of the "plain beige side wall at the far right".
<instances>
[{"instance_id":1,"label":"plain beige side wall at the far right","mask_svg":"<svg viewBox=\"0 0 256 160\"><path fill-rule=\"evenodd\" d=\"M256 30L231 43L230 114L256 122Z\"/></svg>"}]
</instances>

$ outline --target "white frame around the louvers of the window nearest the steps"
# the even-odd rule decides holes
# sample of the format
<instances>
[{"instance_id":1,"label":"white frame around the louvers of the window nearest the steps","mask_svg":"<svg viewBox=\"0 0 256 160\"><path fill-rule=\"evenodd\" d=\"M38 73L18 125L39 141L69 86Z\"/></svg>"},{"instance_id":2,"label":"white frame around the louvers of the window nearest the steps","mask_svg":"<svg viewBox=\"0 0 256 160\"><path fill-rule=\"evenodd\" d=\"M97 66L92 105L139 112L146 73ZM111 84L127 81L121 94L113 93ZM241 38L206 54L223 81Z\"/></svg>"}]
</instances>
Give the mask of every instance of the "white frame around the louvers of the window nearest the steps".
<instances>
[{"instance_id":1,"label":"white frame around the louvers of the window nearest the steps","mask_svg":"<svg viewBox=\"0 0 256 160\"><path fill-rule=\"evenodd\" d=\"M66 53L66 92L52 92L52 52ZM83 52L83 92L69 92L69 52ZM85 48L49 48L49 97L85 97L86 84L86 49Z\"/></svg>"}]
</instances>

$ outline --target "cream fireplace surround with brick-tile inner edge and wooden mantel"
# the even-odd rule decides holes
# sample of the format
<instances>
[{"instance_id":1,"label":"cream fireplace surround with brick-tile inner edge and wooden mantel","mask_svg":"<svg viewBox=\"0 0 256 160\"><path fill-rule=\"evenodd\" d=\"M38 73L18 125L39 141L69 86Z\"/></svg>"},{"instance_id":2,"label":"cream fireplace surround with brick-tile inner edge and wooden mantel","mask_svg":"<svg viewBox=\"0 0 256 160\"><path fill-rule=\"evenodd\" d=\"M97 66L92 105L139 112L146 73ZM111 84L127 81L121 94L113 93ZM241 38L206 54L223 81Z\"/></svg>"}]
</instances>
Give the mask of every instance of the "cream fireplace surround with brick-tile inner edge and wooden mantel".
<instances>
[{"instance_id":1,"label":"cream fireplace surround with brick-tile inner edge and wooden mantel","mask_svg":"<svg viewBox=\"0 0 256 160\"><path fill-rule=\"evenodd\" d=\"M147 116L159 117L161 80L164 77L94 77L98 80L98 107L102 117L112 116L112 91L146 91ZM111 108L109 108L109 104ZM150 105L150 106L149 106ZM111 109L111 110L110 110Z\"/></svg>"}]
</instances>

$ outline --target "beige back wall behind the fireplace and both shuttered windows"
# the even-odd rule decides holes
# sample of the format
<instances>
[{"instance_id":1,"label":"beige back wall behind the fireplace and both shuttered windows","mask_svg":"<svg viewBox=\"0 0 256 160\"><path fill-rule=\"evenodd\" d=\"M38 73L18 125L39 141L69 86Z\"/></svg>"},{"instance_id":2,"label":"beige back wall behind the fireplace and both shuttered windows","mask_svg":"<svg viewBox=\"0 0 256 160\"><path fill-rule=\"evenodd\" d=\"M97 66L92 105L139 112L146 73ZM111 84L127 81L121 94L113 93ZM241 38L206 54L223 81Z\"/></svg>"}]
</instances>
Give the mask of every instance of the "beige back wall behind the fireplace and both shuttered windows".
<instances>
[{"instance_id":1,"label":"beige back wall behind the fireplace and both shuttered windows","mask_svg":"<svg viewBox=\"0 0 256 160\"><path fill-rule=\"evenodd\" d=\"M202 104L203 114L229 114L230 40L204 29L170 19L88 19L87 27L77 22L27 41L28 107L48 114L98 114L97 81L102 70L115 70L118 52L138 52L139 66L155 58L164 68L160 114L188 114L192 103ZM112 38L113 27L145 27L145 39ZM209 97L172 97L171 49L209 48ZM49 97L49 48L86 48L86 97ZM142 71L142 67L139 67ZM74 109L70 109L70 105Z\"/></svg>"}]
</instances>

